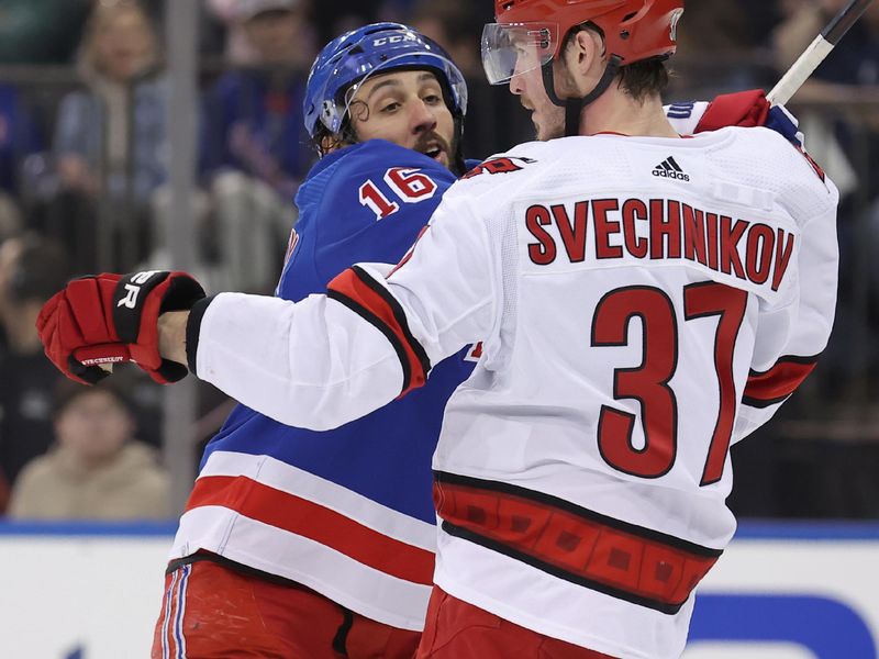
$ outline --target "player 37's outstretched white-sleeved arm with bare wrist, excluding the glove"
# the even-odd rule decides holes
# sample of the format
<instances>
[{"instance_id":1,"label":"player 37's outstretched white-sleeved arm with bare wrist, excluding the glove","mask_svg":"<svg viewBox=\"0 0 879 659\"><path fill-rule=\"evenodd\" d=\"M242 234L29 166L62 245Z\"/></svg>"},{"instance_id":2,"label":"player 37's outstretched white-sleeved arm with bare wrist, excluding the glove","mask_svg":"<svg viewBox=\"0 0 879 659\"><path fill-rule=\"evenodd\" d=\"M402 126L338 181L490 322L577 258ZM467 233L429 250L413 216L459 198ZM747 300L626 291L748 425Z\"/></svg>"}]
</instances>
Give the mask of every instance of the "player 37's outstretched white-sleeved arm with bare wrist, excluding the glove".
<instances>
[{"instance_id":1,"label":"player 37's outstretched white-sleeved arm with bare wrist, excluding the glove","mask_svg":"<svg viewBox=\"0 0 879 659\"><path fill-rule=\"evenodd\" d=\"M345 270L299 303L221 293L159 326L164 355L281 423L336 427L421 387L490 334L494 259L466 202L445 199L402 267ZM186 343L185 351L181 344Z\"/></svg>"}]
</instances>

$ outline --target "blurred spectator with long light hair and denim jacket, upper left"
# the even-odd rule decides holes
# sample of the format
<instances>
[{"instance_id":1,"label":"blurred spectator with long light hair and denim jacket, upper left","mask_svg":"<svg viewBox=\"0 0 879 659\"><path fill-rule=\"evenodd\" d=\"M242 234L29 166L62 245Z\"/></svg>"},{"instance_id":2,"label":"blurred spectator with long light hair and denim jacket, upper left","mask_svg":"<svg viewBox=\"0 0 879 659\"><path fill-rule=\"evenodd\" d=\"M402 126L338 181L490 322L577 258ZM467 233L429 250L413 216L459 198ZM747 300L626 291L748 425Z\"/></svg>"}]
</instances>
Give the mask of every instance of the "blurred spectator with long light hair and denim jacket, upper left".
<instances>
[{"instance_id":1,"label":"blurred spectator with long light hair and denim jacket, upper left","mask_svg":"<svg viewBox=\"0 0 879 659\"><path fill-rule=\"evenodd\" d=\"M167 86L157 64L156 35L138 4L96 3L78 58L87 88L58 111L54 152L64 192L48 219L48 231L71 246L77 271L133 268L149 252L153 196L166 178Z\"/></svg>"}]
</instances>

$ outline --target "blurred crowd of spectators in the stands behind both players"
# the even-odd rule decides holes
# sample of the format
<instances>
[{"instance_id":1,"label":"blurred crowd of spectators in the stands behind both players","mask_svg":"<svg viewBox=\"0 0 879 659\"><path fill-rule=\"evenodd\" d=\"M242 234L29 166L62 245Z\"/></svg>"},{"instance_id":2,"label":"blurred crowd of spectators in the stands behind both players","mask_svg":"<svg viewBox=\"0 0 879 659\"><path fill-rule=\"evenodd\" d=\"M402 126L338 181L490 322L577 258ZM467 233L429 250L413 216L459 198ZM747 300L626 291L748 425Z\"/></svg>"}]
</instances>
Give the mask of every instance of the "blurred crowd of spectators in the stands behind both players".
<instances>
[{"instance_id":1,"label":"blurred crowd of spectators in the stands behind both players","mask_svg":"<svg viewBox=\"0 0 879 659\"><path fill-rule=\"evenodd\" d=\"M845 0L692 2L669 100L769 88ZM62 381L34 320L70 277L167 263L169 96L159 0L0 3L0 514L173 516L159 463L160 395L135 369L99 387ZM302 126L320 46L375 20L414 25L470 80L470 158L532 136L482 77L489 0L203 0L199 277L211 292L270 293L316 155ZM879 5L791 109L838 183L844 270L832 345L782 417L733 449L734 510L761 517L879 517ZM227 401L200 390L204 440ZM207 420L207 421L205 421Z\"/></svg>"}]
</instances>

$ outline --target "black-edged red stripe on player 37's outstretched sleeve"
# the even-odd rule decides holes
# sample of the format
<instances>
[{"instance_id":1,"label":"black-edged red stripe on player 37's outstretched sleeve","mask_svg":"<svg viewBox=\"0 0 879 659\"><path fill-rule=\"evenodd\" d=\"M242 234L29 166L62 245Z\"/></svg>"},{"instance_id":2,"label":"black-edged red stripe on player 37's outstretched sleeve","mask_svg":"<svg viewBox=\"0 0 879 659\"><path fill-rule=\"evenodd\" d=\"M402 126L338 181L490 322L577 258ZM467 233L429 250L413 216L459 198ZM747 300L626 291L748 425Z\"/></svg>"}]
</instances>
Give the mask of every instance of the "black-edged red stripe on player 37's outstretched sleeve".
<instances>
[{"instance_id":1,"label":"black-edged red stripe on player 37's outstretched sleeve","mask_svg":"<svg viewBox=\"0 0 879 659\"><path fill-rule=\"evenodd\" d=\"M424 386L431 360L409 331L402 308L385 287L354 266L330 282L326 294L375 325L393 346L403 368L401 398Z\"/></svg>"}]
</instances>

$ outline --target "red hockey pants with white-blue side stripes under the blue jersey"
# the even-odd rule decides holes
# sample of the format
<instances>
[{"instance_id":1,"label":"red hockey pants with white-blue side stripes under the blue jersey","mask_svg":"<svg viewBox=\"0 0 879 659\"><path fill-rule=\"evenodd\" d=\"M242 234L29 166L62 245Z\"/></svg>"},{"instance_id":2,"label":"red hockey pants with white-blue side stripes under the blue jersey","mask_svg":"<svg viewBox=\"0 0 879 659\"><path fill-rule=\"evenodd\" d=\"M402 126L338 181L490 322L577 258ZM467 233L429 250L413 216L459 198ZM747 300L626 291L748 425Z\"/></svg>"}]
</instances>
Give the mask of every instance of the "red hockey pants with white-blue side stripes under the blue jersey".
<instances>
[{"instance_id":1,"label":"red hockey pants with white-blue side stripes under the blue jersey","mask_svg":"<svg viewBox=\"0 0 879 659\"><path fill-rule=\"evenodd\" d=\"M152 659L411 659L420 636L202 560L165 578Z\"/></svg>"}]
</instances>

